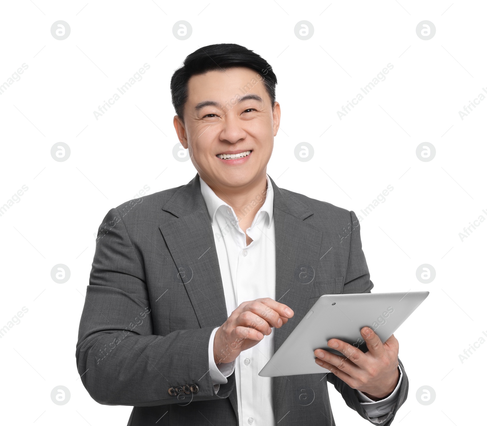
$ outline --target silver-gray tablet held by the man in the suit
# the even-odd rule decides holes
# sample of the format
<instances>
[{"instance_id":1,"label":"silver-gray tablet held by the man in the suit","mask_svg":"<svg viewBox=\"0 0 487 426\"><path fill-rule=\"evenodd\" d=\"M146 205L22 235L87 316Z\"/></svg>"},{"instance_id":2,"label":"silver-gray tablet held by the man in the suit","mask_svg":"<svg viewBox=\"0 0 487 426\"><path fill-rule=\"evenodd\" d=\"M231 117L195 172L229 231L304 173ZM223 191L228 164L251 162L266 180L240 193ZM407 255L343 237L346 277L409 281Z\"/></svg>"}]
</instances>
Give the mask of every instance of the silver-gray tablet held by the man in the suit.
<instances>
[{"instance_id":1,"label":"silver-gray tablet held by the man in the suit","mask_svg":"<svg viewBox=\"0 0 487 426\"><path fill-rule=\"evenodd\" d=\"M343 355L328 340L343 340L367 352L360 335L368 326L384 343L430 292L323 295L259 372L262 377L326 373L315 363L315 349ZM285 326L284 326L285 327Z\"/></svg>"}]
</instances>

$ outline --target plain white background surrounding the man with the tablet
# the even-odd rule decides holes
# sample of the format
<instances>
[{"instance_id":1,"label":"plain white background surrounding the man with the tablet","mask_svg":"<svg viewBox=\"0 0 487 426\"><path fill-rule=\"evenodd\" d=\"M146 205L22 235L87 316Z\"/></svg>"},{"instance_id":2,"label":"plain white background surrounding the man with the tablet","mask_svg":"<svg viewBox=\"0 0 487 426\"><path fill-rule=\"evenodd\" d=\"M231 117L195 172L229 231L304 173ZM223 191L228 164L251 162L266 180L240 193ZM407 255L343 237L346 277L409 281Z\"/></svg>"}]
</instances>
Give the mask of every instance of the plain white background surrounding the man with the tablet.
<instances>
[{"instance_id":1,"label":"plain white background surrounding the man with the tablet","mask_svg":"<svg viewBox=\"0 0 487 426\"><path fill-rule=\"evenodd\" d=\"M410 380L396 424L473 423L485 403L487 344L463 363L459 354L487 333L487 221L463 241L459 232L487 218L487 100L464 120L458 111L487 88L487 7L451 1L3 2L0 84L28 69L0 95L0 205L28 190L0 217L0 327L28 313L0 339L1 423L127 423L131 407L98 405L76 371L94 233L144 185L154 193L194 176L190 161L172 156L169 80L189 53L220 42L254 50L277 74L282 120L269 175L362 216L375 292L431 292L395 333ZM51 35L57 20L71 27L65 40ZM179 20L192 26L184 41L172 34ZM314 26L308 40L295 36L300 20ZM422 20L436 27L430 40L416 35ZM96 120L145 63L143 79ZM387 78L339 120L388 63ZM65 162L50 154L59 142L71 148ZM294 156L302 142L314 147L309 162ZM436 148L430 162L416 157L424 142ZM387 185L386 201L361 214ZM58 263L71 271L64 284L51 278ZM416 278L423 263L436 271L429 284ZM58 385L71 392L64 406L51 401ZM415 396L425 385L436 392L428 406ZM330 398L337 425L367 423L333 388Z\"/></svg>"}]
</instances>

